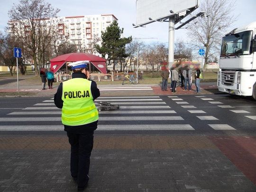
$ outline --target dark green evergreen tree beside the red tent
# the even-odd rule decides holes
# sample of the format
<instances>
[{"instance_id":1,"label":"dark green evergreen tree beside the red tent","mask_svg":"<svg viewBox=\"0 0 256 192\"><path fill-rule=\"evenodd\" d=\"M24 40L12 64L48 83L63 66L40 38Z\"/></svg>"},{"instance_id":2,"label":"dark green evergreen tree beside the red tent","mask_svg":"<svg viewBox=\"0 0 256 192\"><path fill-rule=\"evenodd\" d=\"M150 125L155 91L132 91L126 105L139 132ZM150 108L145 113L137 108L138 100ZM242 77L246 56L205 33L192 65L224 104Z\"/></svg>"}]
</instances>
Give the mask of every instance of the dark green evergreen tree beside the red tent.
<instances>
[{"instance_id":1,"label":"dark green evergreen tree beside the red tent","mask_svg":"<svg viewBox=\"0 0 256 192\"><path fill-rule=\"evenodd\" d=\"M106 54L109 55L109 61L111 60L113 62L113 71L115 71L117 62L127 57L125 45L132 41L131 36L121 38L123 31L124 28L120 29L118 22L116 20L113 21L113 23L106 28L105 32L101 32L101 46L96 45L97 52L102 56Z\"/></svg>"}]
</instances>

